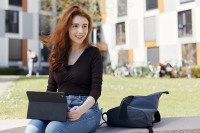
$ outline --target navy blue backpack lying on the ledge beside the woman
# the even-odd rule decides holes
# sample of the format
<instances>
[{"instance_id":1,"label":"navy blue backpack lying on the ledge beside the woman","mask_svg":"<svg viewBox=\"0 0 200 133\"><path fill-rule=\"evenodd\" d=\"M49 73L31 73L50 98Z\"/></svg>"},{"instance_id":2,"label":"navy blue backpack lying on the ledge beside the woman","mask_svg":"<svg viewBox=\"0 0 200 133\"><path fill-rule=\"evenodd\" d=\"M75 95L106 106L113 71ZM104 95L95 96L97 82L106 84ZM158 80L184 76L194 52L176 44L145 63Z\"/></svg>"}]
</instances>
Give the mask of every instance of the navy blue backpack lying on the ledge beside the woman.
<instances>
[{"instance_id":1,"label":"navy blue backpack lying on the ledge beside the woman","mask_svg":"<svg viewBox=\"0 0 200 133\"><path fill-rule=\"evenodd\" d=\"M147 96L128 96L123 98L120 106L102 114L102 119L111 127L148 128L153 133L153 123L160 121L158 101L168 91L157 92ZM104 115L107 115L107 121Z\"/></svg>"}]
</instances>

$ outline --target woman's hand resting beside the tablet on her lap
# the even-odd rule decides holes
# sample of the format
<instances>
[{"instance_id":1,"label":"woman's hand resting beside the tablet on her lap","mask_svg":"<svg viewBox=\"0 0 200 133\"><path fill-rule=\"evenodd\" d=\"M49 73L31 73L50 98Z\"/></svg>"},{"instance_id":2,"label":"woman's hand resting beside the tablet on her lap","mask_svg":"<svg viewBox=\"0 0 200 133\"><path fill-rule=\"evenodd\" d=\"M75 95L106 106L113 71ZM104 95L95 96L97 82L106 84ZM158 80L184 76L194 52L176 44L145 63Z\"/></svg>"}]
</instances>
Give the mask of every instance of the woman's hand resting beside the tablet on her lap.
<instances>
[{"instance_id":1,"label":"woman's hand resting beside the tablet on her lap","mask_svg":"<svg viewBox=\"0 0 200 133\"><path fill-rule=\"evenodd\" d=\"M83 113L84 112L80 106L74 106L69 112L67 112L67 117L70 121L75 121L78 120Z\"/></svg>"}]
</instances>

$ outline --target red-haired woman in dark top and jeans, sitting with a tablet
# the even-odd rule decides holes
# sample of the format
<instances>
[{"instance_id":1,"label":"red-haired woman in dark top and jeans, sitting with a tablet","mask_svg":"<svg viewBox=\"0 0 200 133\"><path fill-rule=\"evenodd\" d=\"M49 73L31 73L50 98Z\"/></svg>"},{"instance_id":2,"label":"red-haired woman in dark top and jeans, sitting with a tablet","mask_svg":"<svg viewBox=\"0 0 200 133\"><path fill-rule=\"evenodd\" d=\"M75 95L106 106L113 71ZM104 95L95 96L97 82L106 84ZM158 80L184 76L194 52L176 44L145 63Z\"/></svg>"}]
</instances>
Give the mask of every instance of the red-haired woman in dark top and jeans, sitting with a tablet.
<instances>
[{"instance_id":1,"label":"red-haired woman in dark top and jeans, sitting with a tablet","mask_svg":"<svg viewBox=\"0 0 200 133\"><path fill-rule=\"evenodd\" d=\"M99 50L91 46L92 20L80 7L72 6L58 22L47 46L54 45L49 56L47 91L65 92L70 111L68 120L31 120L26 133L88 133L101 119L97 99L101 95L102 61ZM55 112L56 113L56 112Z\"/></svg>"}]
</instances>

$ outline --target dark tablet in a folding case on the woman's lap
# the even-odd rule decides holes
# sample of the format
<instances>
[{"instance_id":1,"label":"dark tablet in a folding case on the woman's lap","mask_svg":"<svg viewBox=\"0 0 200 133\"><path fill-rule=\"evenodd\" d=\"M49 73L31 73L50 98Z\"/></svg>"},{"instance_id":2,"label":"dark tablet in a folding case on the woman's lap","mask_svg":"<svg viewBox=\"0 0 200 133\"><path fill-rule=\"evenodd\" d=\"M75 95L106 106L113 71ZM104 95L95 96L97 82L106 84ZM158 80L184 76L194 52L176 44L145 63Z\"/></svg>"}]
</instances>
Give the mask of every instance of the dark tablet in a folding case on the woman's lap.
<instances>
[{"instance_id":1,"label":"dark tablet in a folding case on the woman's lap","mask_svg":"<svg viewBox=\"0 0 200 133\"><path fill-rule=\"evenodd\" d=\"M40 119L49 121L66 121L66 113L69 111L64 92L26 92L29 104L28 119Z\"/></svg>"}]
</instances>

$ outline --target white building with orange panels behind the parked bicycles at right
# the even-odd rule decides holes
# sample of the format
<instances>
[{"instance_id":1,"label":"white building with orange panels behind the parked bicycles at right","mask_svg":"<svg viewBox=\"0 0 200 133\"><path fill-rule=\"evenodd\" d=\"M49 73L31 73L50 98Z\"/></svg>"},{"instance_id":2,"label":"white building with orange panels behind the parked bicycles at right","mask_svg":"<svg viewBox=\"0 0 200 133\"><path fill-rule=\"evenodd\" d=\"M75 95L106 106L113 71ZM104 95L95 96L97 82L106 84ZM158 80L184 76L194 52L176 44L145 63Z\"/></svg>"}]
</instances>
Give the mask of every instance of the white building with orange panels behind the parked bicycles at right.
<instances>
[{"instance_id":1,"label":"white building with orange panels behind the parked bicycles at right","mask_svg":"<svg viewBox=\"0 0 200 133\"><path fill-rule=\"evenodd\" d=\"M200 0L102 0L102 10L112 67L200 65Z\"/></svg>"}]
</instances>

